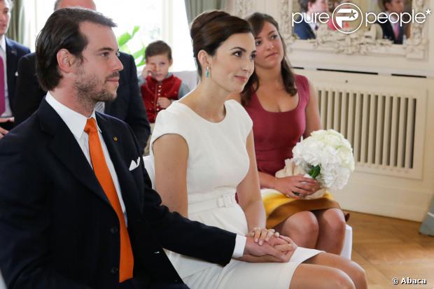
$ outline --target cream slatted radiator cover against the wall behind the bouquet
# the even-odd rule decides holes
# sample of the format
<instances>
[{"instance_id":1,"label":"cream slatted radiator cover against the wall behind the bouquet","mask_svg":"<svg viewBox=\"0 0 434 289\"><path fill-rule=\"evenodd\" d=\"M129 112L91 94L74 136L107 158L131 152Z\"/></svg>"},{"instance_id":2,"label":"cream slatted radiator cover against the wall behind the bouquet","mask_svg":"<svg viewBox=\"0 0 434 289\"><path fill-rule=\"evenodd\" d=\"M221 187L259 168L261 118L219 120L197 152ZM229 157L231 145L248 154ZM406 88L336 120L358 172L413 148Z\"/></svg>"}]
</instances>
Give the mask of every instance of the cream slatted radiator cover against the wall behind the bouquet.
<instances>
[{"instance_id":1,"label":"cream slatted radiator cover against the wall behind the bouquet","mask_svg":"<svg viewBox=\"0 0 434 289\"><path fill-rule=\"evenodd\" d=\"M356 171L334 192L343 209L422 220L434 189L434 82L296 70L318 96L321 125L353 146Z\"/></svg>"}]
</instances>

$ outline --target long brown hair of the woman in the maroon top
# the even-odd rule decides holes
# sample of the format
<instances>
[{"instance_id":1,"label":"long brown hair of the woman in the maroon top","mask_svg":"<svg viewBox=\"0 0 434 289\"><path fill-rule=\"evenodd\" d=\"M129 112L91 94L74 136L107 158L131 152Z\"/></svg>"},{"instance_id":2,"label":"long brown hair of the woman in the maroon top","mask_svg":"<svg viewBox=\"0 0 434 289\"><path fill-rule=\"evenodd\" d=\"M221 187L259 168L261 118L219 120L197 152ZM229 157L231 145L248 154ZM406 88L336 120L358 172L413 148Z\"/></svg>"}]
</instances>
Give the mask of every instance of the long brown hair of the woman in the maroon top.
<instances>
[{"instance_id":1,"label":"long brown hair of the woman in the maroon top","mask_svg":"<svg viewBox=\"0 0 434 289\"><path fill-rule=\"evenodd\" d=\"M269 22L274 25L277 29L277 33L279 34L279 37L282 39L281 34L279 32L279 24L274 20L274 18L270 15L267 15L265 13L253 13L252 15L246 17L246 20L248 23L250 23L252 29L253 29L253 35L256 37L258 34L260 34L260 31L262 31L262 28L264 27L265 22ZM290 69L290 66L288 64L288 60L286 59L286 45L285 42L282 40L283 45L283 59L281 61L281 75L283 78L283 85L285 87L286 92L288 92L290 95L297 94L297 88L295 88L295 76L293 71ZM244 87L244 90L241 92L241 104L243 106L246 106L250 103L252 95L258 91L259 88L259 78L258 75L253 71L252 76L248 79L248 82L246 86Z\"/></svg>"}]
</instances>

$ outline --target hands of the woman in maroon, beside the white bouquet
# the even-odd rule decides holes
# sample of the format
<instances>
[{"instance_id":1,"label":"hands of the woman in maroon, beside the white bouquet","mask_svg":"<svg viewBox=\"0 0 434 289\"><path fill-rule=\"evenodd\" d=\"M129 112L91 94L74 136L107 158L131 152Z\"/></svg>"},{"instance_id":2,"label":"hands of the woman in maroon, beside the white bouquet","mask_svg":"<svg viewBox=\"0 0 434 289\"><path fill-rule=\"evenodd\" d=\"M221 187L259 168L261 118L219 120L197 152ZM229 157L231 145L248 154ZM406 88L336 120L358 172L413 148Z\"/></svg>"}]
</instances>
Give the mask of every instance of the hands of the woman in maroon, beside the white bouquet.
<instances>
[{"instance_id":1,"label":"hands of the woman in maroon, beside the white bouquet","mask_svg":"<svg viewBox=\"0 0 434 289\"><path fill-rule=\"evenodd\" d=\"M302 175L287 176L274 180L274 189L282 192L288 197L302 199L307 195L312 195L320 189L319 183L313 178L306 178Z\"/></svg>"}]
</instances>

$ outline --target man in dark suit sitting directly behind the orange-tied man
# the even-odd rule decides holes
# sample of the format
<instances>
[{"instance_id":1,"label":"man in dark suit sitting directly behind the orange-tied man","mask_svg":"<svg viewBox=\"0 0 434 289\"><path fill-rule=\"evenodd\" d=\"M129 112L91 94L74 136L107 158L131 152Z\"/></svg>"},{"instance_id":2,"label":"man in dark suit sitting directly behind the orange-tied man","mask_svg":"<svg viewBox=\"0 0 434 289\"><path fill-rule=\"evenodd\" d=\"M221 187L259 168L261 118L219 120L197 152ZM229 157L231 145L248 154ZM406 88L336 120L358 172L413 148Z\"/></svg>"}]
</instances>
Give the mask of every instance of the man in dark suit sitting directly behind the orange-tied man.
<instances>
[{"instance_id":1,"label":"man in dark suit sitting directly behind the orange-tied man","mask_svg":"<svg viewBox=\"0 0 434 289\"><path fill-rule=\"evenodd\" d=\"M61 0L55 3L55 9L69 6L81 6L95 10L92 0ZM124 69L120 72L118 97L114 101L104 101L104 113L127 122L139 142L140 149L144 150L151 134L151 127L139 92L137 67L132 55L120 52L119 59ZM36 55L31 53L23 57L18 66L15 126L36 111L47 93L36 79L35 62Z\"/></svg>"}]
</instances>

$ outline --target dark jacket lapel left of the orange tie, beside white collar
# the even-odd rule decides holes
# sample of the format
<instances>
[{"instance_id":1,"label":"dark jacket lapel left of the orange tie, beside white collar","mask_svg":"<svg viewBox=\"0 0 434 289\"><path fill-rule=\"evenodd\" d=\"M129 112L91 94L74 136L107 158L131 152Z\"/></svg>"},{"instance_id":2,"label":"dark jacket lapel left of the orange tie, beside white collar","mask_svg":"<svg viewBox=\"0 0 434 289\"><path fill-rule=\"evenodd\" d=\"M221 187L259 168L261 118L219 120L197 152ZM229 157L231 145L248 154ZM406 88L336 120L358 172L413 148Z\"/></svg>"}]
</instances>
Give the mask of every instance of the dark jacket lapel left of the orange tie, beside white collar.
<instances>
[{"instance_id":1,"label":"dark jacket lapel left of the orange tie, beside white collar","mask_svg":"<svg viewBox=\"0 0 434 289\"><path fill-rule=\"evenodd\" d=\"M52 136L49 146L52 153L78 181L111 206L72 132L45 99L38 108L38 117L41 129Z\"/></svg>"}]
</instances>

